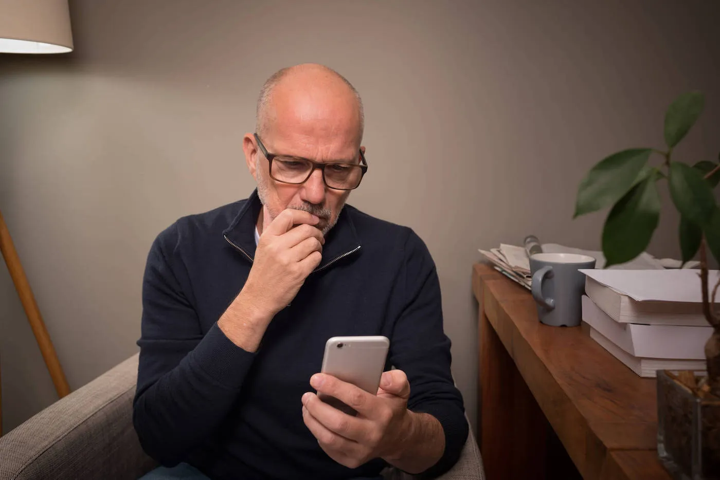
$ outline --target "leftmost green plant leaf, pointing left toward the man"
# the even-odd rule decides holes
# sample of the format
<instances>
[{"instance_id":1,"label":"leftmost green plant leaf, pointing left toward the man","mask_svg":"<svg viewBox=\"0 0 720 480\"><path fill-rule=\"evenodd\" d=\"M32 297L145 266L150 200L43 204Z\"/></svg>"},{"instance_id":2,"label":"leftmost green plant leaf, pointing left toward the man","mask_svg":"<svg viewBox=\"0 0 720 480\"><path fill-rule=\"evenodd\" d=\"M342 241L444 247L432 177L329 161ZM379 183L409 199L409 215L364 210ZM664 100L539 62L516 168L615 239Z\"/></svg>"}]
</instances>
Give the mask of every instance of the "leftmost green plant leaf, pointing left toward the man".
<instances>
[{"instance_id":1,"label":"leftmost green plant leaf, pointing left toward the man","mask_svg":"<svg viewBox=\"0 0 720 480\"><path fill-rule=\"evenodd\" d=\"M600 160L582 179L577 189L575 215L595 212L609 207L634 184L647 163L652 150L631 148Z\"/></svg>"}]
</instances>

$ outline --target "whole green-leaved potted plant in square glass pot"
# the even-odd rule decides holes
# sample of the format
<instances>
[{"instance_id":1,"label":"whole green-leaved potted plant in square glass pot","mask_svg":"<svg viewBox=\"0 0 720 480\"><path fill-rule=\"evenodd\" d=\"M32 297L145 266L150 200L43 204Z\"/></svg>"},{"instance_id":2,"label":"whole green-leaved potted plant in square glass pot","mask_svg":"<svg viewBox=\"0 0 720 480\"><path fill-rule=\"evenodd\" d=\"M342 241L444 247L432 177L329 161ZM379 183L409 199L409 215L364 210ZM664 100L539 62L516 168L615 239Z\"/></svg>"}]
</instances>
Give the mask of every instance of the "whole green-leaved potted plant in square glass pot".
<instances>
[{"instance_id":1,"label":"whole green-leaved potted plant in square glass pot","mask_svg":"<svg viewBox=\"0 0 720 480\"><path fill-rule=\"evenodd\" d=\"M667 148L632 148L608 156L582 179L575 216L611 207L603 226L606 266L642 253L660 218L658 185L667 181L680 212L683 263L699 251L703 314L713 327L705 346L707 373L657 372L657 450L676 479L720 479L720 312L715 299L720 281L708 284L710 250L720 261L720 208L713 190L720 164L704 160L690 166L673 150L695 124L705 104L701 92L682 94L665 114ZM660 160L652 163L651 158Z\"/></svg>"}]
</instances>

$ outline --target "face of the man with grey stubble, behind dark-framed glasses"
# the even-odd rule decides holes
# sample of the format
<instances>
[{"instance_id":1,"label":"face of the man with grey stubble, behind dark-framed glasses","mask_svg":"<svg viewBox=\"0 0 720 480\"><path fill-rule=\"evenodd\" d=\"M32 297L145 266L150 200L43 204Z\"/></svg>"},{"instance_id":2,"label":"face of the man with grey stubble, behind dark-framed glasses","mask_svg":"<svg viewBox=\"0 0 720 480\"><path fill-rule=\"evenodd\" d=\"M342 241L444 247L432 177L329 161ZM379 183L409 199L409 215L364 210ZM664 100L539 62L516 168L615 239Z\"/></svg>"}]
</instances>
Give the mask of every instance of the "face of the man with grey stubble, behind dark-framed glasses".
<instances>
[{"instance_id":1,"label":"face of the man with grey stubble, behind dark-framed glasses","mask_svg":"<svg viewBox=\"0 0 720 480\"><path fill-rule=\"evenodd\" d=\"M336 87L338 88L338 87ZM271 116L264 132L258 132L269 153L309 158L316 162L359 161L359 114L356 100L348 94L333 95L326 89L285 91L276 86ZM335 225L350 191L330 189L320 169L312 171L303 184L284 184L270 176L269 162L253 135L243 140L248 168L258 184L264 205L264 227L286 208L300 209L320 218L323 235Z\"/></svg>"}]
</instances>

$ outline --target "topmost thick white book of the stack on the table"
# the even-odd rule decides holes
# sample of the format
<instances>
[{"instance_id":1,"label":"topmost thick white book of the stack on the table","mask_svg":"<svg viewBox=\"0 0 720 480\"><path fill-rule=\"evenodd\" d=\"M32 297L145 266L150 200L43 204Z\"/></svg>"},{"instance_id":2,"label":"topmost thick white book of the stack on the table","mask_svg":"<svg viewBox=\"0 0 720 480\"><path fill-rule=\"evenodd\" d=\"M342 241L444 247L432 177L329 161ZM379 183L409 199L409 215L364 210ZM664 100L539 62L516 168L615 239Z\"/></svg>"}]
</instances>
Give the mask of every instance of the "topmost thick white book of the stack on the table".
<instances>
[{"instance_id":1,"label":"topmost thick white book of the stack on the table","mask_svg":"<svg viewBox=\"0 0 720 480\"><path fill-rule=\"evenodd\" d=\"M585 273L585 294L616 322L708 326L697 271L580 271ZM719 271L710 271L708 276L714 285Z\"/></svg>"}]
</instances>

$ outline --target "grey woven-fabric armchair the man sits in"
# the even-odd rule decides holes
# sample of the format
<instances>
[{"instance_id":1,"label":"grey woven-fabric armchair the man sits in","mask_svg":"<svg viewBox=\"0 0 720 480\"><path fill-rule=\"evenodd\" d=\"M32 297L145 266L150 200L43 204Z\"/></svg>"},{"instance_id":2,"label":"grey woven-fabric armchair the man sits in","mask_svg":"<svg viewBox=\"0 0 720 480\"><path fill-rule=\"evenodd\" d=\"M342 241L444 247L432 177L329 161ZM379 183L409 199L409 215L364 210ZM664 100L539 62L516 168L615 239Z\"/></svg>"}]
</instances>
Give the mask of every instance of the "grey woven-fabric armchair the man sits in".
<instances>
[{"instance_id":1,"label":"grey woven-fabric armchair the man sits in","mask_svg":"<svg viewBox=\"0 0 720 480\"><path fill-rule=\"evenodd\" d=\"M128 358L0 437L0 480L135 480L156 466L132 427L138 355ZM413 476L388 469L390 480ZM483 480L470 433L442 480Z\"/></svg>"}]
</instances>

